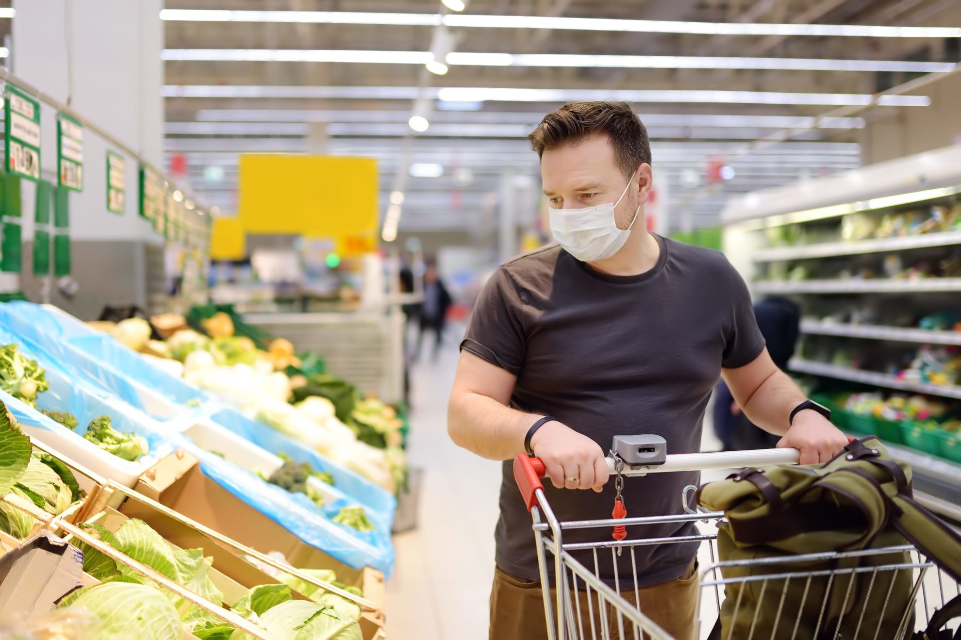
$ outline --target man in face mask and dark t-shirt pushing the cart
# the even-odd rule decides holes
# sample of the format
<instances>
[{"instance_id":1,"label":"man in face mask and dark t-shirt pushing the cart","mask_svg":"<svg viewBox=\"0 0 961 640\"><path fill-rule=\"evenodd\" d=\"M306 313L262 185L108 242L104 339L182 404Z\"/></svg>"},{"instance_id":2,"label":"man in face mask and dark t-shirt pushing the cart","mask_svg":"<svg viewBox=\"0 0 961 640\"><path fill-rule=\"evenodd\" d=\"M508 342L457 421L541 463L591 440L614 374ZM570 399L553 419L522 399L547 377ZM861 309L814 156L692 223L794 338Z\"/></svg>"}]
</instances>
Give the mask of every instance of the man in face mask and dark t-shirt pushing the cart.
<instances>
[{"instance_id":1,"label":"man in face mask and dark t-shirt pushing the cart","mask_svg":"<svg viewBox=\"0 0 961 640\"><path fill-rule=\"evenodd\" d=\"M510 464L526 438L547 467L553 487L545 493L561 521L610 517L604 454L612 436L655 433L669 453L699 451L704 407L722 374L752 422L782 435L780 446L801 449L802 463L825 461L847 444L820 409L791 417L806 399L768 355L748 289L727 259L647 232L650 143L627 104L569 103L529 139L559 246L506 262L484 285L448 410L457 445L505 460L492 640L547 637L530 514ZM628 517L677 513L683 486L697 481L696 473L626 480ZM629 528L628 536L692 530L662 524ZM599 533L564 533L565 543L584 541L600 541ZM688 638L696 553L696 543L638 547L620 558L604 552L598 568L631 602L636 575L642 611ZM592 554L575 557L594 570ZM586 600L580 594L584 616ZM596 618L596 596L593 611Z\"/></svg>"}]
</instances>

